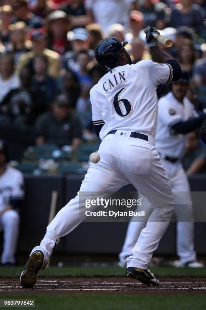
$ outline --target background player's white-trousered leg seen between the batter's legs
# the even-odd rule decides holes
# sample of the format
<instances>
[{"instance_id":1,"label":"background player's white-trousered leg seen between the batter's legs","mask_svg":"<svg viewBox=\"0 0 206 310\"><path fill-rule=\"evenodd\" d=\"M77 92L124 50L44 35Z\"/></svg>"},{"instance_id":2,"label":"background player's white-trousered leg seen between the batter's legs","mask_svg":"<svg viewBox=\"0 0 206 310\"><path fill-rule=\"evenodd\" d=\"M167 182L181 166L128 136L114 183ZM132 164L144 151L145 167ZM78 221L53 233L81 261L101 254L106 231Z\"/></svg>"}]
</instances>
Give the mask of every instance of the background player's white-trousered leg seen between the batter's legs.
<instances>
[{"instance_id":1,"label":"background player's white-trousered leg seen between the batter's legs","mask_svg":"<svg viewBox=\"0 0 206 310\"><path fill-rule=\"evenodd\" d=\"M122 247L121 253L119 254L119 265L121 267L125 267L127 265L127 257L131 255L131 250L135 246L141 230L146 226L147 219L152 211L146 197L143 197L141 193L138 193L138 198L143 199L141 206L138 206L135 211L140 212L141 210L144 210L145 216L142 219L139 219L136 216L132 216L130 219L124 245Z\"/></svg>"}]
</instances>

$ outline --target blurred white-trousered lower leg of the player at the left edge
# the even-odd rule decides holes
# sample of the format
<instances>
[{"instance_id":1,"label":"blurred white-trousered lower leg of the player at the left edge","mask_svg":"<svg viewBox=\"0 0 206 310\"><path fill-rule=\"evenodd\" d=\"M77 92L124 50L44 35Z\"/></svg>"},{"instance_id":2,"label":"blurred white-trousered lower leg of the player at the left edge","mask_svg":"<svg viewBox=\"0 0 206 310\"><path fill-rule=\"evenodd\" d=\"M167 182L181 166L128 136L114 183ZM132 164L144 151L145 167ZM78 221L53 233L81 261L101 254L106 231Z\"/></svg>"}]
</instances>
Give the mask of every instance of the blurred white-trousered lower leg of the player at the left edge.
<instances>
[{"instance_id":1,"label":"blurred white-trousered lower leg of the player at the left edge","mask_svg":"<svg viewBox=\"0 0 206 310\"><path fill-rule=\"evenodd\" d=\"M4 247L1 263L15 263L15 253L19 236L20 217L16 210L7 210L1 216L1 226L4 230Z\"/></svg>"}]
</instances>

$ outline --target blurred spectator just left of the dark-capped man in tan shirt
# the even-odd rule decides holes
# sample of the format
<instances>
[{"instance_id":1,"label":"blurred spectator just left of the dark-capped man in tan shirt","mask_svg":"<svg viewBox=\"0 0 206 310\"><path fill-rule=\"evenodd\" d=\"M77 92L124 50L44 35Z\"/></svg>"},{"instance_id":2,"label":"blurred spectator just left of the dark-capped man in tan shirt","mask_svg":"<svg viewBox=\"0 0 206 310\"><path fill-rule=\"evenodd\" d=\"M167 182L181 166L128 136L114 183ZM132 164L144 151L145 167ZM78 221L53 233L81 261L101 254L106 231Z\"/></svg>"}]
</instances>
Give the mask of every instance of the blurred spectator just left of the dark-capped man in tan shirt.
<instances>
[{"instance_id":1,"label":"blurred spectator just left of the dark-capped man in tan shirt","mask_svg":"<svg viewBox=\"0 0 206 310\"><path fill-rule=\"evenodd\" d=\"M26 41L26 25L24 22L17 22L10 27L10 52L14 55L17 64L21 55L27 53L31 49L31 45Z\"/></svg>"}]
</instances>

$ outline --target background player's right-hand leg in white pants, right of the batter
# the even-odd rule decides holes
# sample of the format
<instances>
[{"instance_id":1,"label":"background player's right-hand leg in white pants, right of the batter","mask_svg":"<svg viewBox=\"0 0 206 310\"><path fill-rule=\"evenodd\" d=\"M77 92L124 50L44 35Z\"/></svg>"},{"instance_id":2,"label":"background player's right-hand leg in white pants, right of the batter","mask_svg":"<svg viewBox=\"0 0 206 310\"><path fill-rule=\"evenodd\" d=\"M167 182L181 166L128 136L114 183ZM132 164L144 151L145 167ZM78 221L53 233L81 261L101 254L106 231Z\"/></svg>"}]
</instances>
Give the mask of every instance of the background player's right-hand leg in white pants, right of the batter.
<instances>
[{"instance_id":1,"label":"background player's right-hand leg in white pants, right of the batter","mask_svg":"<svg viewBox=\"0 0 206 310\"><path fill-rule=\"evenodd\" d=\"M190 186L182 166L176 169L172 178L172 189L177 216L177 254L181 264L196 261L194 251L194 219Z\"/></svg>"}]
</instances>

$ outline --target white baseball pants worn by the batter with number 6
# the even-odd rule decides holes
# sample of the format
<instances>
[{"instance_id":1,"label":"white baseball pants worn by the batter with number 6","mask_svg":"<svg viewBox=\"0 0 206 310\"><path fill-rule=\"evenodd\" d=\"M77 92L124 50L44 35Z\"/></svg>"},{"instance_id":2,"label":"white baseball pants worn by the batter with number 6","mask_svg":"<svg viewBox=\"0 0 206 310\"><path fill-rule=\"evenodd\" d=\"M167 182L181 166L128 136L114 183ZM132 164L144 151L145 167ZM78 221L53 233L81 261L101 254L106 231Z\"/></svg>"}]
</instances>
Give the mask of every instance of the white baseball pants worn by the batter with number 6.
<instances>
[{"instance_id":1,"label":"white baseball pants worn by the batter with number 6","mask_svg":"<svg viewBox=\"0 0 206 310\"><path fill-rule=\"evenodd\" d=\"M122 132L124 135L120 135ZM102 140L98 150L100 162L90 165L79 192L115 192L132 183L147 197L152 208L151 220L141 231L128 260L128 266L145 269L168 227L174 203L170 182L153 138L149 137L147 142L130 138L130 133L118 130L115 135L110 134ZM52 254L59 237L69 234L86 217L79 192L47 226L40 243L47 256Z\"/></svg>"}]
</instances>

